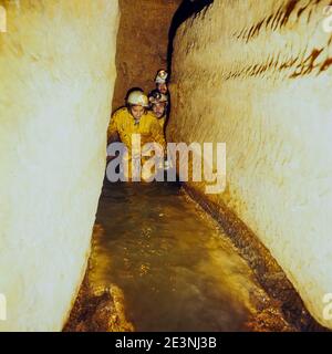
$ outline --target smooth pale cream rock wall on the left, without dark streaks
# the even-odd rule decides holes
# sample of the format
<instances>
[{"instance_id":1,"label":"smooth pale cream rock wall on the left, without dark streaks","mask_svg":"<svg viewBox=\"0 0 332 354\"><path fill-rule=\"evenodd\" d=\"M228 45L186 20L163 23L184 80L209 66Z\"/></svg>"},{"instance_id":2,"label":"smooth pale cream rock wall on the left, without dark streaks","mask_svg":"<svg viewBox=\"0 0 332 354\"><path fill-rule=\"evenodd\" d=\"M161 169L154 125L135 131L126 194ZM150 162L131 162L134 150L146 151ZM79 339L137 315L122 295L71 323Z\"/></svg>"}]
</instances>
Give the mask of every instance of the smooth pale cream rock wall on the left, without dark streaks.
<instances>
[{"instance_id":1,"label":"smooth pale cream rock wall on the left, without dark streaks","mask_svg":"<svg viewBox=\"0 0 332 354\"><path fill-rule=\"evenodd\" d=\"M0 331L61 330L85 272L115 81L117 1L2 0Z\"/></svg>"}]
</instances>

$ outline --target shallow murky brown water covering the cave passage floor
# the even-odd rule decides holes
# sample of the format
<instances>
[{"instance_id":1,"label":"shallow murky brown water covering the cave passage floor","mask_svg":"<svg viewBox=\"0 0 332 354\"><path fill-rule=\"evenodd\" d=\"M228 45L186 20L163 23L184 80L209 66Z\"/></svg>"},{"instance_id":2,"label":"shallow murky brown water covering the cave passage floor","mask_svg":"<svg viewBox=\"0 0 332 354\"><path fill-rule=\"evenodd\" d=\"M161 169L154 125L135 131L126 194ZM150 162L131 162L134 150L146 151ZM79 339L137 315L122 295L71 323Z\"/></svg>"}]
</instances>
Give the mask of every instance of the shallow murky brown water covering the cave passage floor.
<instances>
[{"instance_id":1,"label":"shallow murky brown water covering the cave passage floor","mask_svg":"<svg viewBox=\"0 0 332 354\"><path fill-rule=\"evenodd\" d=\"M115 331L121 321L146 332L293 330L220 226L178 184L105 181L86 277L90 293L121 293Z\"/></svg>"}]
</instances>

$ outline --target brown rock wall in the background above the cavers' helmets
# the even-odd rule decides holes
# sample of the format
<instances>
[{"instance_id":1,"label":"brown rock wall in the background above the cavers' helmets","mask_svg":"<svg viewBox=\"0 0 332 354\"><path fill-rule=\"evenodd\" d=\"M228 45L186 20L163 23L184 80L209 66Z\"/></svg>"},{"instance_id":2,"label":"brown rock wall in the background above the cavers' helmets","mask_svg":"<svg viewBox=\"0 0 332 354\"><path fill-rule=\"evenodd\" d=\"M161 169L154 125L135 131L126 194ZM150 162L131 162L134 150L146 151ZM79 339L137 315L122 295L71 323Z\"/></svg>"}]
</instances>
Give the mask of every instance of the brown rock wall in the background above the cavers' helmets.
<instances>
[{"instance_id":1,"label":"brown rock wall in the background above the cavers' helmets","mask_svg":"<svg viewBox=\"0 0 332 354\"><path fill-rule=\"evenodd\" d=\"M146 93L155 88L154 79L167 67L168 31L181 0L120 0L116 67L113 108L124 104L132 87Z\"/></svg>"}]
</instances>

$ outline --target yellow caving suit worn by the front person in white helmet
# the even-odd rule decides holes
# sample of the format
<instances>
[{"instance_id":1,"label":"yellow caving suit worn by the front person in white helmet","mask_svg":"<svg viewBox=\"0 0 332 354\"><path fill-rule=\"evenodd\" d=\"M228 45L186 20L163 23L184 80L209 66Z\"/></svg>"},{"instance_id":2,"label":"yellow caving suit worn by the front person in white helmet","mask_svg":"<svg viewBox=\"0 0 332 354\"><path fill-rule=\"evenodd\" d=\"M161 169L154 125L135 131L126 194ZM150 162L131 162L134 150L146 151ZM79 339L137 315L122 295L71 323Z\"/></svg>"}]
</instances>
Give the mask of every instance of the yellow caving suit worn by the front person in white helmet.
<instances>
[{"instance_id":1,"label":"yellow caving suit worn by the front person in white helmet","mask_svg":"<svg viewBox=\"0 0 332 354\"><path fill-rule=\"evenodd\" d=\"M123 144L126 145L129 156L129 176L132 170L132 135L141 134L141 147L147 143L158 143L164 152L166 149L166 142L164 137L164 132L158 123L158 119L149 112L144 114L138 124L135 124L135 119L126 107L117 110L111 118L111 123L107 129L107 139L116 135Z\"/></svg>"}]
</instances>

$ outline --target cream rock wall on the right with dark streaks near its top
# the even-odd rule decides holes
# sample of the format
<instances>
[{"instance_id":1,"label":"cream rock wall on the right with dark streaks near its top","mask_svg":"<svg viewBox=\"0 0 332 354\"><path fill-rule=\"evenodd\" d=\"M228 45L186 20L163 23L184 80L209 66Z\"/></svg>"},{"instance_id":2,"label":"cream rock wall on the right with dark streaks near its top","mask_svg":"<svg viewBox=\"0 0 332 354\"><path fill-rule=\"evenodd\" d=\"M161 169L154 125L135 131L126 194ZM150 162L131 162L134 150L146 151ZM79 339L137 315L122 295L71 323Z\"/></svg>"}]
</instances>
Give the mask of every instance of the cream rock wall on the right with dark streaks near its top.
<instances>
[{"instance_id":1,"label":"cream rock wall on the right with dark streaks near its top","mask_svg":"<svg viewBox=\"0 0 332 354\"><path fill-rule=\"evenodd\" d=\"M323 303L332 293L329 3L215 0L188 19L175 40L167 134L227 143L227 189L206 198L253 230L331 329Z\"/></svg>"}]
</instances>

